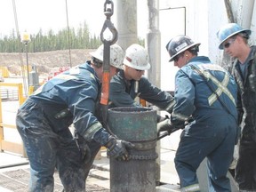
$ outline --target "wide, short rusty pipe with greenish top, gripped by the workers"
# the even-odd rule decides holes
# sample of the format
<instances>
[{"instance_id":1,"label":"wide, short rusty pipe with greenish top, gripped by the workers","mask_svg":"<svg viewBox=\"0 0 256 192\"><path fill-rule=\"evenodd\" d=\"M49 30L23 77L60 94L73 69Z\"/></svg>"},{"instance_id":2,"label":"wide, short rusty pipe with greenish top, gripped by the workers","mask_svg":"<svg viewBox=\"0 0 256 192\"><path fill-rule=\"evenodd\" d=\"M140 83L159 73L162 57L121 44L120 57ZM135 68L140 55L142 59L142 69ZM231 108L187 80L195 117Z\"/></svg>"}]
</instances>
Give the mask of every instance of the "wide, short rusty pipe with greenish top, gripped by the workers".
<instances>
[{"instance_id":1,"label":"wide, short rusty pipe with greenish top, gripped by the workers","mask_svg":"<svg viewBox=\"0 0 256 192\"><path fill-rule=\"evenodd\" d=\"M135 145L129 150L131 160L110 158L110 191L156 191L156 110L110 108L108 125L119 139Z\"/></svg>"}]
</instances>

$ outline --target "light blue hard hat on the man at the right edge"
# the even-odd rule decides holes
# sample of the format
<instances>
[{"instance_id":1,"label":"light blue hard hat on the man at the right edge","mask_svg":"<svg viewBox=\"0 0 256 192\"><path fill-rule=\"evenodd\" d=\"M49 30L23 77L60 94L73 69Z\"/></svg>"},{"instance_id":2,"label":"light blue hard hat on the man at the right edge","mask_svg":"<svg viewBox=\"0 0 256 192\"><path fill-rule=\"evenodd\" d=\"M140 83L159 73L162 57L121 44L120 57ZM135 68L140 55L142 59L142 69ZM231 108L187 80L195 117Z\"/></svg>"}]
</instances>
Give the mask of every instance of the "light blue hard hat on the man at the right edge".
<instances>
[{"instance_id":1,"label":"light blue hard hat on the man at the right edge","mask_svg":"<svg viewBox=\"0 0 256 192\"><path fill-rule=\"evenodd\" d=\"M235 36L236 34L242 32L246 33L248 36L250 36L252 33L250 29L244 29L237 23L228 23L226 26L220 28L220 30L217 32L217 36L220 40L219 49L223 49L223 42L226 41L229 37Z\"/></svg>"}]
</instances>

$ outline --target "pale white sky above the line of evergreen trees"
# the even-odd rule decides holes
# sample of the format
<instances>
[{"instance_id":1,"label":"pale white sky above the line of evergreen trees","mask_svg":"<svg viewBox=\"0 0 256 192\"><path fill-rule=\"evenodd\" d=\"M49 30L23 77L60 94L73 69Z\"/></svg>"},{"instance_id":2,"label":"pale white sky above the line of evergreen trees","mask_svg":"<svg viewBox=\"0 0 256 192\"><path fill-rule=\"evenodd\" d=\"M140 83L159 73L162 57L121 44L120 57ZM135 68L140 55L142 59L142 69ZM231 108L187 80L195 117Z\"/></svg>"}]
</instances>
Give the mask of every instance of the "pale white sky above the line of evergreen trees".
<instances>
[{"instance_id":1,"label":"pale white sky above the line of evergreen trees","mask_svg":"<svg viewBox=\"0 0 256 192\"><path fill-rule=\"evenodd\" d=\"M24 31L36 34L40 28L45 33L49 29L59 31L68 26L77 28L83 25L85 20L92 36L100 36L106 19L103 12L105 0L67 0L68 22L66 0L0 0L0 37L10 36L13 29L17 33L13 2L16 5L20 34ZM114 20L112 22L114 23ZM141 25L138 26L139 36L140 28Z\"/></svg>"}]
</instances>

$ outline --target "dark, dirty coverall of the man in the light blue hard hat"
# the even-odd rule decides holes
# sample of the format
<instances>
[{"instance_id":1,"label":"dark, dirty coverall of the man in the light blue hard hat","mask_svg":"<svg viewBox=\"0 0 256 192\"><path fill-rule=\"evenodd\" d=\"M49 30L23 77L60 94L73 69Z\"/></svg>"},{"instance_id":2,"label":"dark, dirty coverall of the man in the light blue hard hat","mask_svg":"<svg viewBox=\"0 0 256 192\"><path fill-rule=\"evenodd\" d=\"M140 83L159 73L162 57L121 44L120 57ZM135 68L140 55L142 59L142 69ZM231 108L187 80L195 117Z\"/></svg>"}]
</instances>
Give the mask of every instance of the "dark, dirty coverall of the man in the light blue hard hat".
<instances>
[{"instance_id":1,"label":"dark, dirty coverall of the man in the light blue hard hat","mask_svg":"<svg viewBox=\"0 0 256 192\"><path fill-rule=\"evenodd\" d=\"M244 62L233 63L232 74L238 85L237 110L239 124L244 116L244 126L236 164L236 182L240 190L256 191L256 46ZM242 72L243 71L243 72Z\"/></svg>"}]
</instances>

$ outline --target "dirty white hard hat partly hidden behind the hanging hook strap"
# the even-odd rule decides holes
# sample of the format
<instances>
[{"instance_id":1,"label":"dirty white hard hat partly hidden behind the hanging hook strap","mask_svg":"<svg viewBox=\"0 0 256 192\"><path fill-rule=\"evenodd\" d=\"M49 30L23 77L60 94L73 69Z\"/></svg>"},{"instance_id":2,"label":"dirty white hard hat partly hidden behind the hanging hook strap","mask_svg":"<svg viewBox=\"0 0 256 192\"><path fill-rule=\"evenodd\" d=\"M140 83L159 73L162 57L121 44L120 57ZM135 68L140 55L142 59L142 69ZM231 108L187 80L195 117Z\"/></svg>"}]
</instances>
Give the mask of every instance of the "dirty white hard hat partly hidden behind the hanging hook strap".
<instances>
[{"instance_id":1,"label":"dirty white hard hat partly hidden behind the hanging hook strap","mask_svg":"<svg viewBox=\"0 0 256 192\"><path fill-rule=\"evenodd\" d=\"M100 47L95 52L90 52L92 57L103 61L103 50L104 45L101 44ZM124 60L124 49L118 44L112 44L110 46L110 60L109 64L115 68L123 69Z\"/></svg>"}]
</instances>

